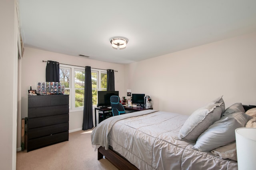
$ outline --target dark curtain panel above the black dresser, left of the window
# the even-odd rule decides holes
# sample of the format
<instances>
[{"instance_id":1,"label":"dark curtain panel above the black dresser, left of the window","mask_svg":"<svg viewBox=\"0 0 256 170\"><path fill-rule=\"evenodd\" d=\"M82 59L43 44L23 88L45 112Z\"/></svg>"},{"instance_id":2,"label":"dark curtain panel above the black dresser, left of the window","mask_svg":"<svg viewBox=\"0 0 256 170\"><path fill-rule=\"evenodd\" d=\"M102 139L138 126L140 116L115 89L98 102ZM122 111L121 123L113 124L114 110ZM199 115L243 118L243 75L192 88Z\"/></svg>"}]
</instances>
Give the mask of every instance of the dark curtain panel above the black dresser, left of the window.
<instances>
[{"instance_id":1,"label":"dark curtain panel above the black dresser, left of the window","mask_svg":"<svg viewBox=\"0 0 256 170\"><path fill-rule=\"evenodd\" d=\"M46 82L60 82L60 64L56 61L47 61Z\"/></svg>"}]
</instances>

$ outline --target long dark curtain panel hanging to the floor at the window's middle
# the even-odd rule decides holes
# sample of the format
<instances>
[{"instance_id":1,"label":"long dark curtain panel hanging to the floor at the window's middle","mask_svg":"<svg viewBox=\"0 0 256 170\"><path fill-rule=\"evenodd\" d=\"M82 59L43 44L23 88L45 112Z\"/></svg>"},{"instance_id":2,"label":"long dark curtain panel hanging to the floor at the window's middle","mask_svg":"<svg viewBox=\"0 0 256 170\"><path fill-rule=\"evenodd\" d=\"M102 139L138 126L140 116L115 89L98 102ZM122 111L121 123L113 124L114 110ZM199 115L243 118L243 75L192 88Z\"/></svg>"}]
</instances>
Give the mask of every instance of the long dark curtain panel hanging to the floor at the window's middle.
<instances>
[{"instance_id":1,"label":"long dark curtain panel hanging to the floor at the window's middle","mask_svg":"<svg viewBox=\"0 0 256 170\"><path fill-rule=\"evenodd\" d=\"M82 130L93 128L92 120L92 75L91 67L85 67L84 78L84 118Z\"/></svg>"}]
</instances>

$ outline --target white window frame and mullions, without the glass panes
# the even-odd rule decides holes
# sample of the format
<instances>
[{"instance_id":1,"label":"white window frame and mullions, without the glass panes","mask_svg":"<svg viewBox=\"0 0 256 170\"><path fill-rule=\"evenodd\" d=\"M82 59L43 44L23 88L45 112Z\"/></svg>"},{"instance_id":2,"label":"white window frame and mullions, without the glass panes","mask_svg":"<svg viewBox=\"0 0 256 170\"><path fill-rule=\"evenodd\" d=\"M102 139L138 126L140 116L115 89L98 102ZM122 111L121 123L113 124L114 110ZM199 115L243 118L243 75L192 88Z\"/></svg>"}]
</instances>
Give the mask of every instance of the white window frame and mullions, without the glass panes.
<instances>
[{"instance_id":1,"label":"white window frame and mullions, without the glass panes","mask_svg":"<svg viewBox=\"0 0 256 170\"><path fill-rule=\"evenodd\" d=\"M70 69L70 84L69 84L69 88L66 88L65 89L69 89L70 91L70 112L77 112L77 111L82 111L84 110L84 107L77 107L76 108L76 105L75 105L75 70L78 70L78 71L85 71L85 68L84 67L80 67L80 66L72 66L72 65L67 65L67 64L60 64L60 69L61 68L64 68L64 69ZM96 88L93 88L92 90L97 90L98 91L101 91L101 90L104 90L106 91L106 88L101 88L101 73L104 73L104 74L107 74L107 70L101 70L101 69L95 69L95 68L91 68L91 72L95 72L97 73L97 87ZM98 99L98 93L97 93L97 99ZM97 105L92 105L93 107L96 107Z\"/></svg>"}]
</instances>

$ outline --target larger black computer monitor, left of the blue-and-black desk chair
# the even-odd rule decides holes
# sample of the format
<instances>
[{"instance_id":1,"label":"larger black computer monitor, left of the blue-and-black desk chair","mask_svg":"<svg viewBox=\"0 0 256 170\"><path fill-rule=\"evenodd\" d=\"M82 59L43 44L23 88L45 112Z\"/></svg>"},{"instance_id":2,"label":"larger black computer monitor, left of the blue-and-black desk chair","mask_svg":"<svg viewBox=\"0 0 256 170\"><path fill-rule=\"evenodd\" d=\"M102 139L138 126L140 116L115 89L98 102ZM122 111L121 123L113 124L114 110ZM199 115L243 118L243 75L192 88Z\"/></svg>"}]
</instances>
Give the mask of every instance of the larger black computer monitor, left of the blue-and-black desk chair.
<instances>
[{"instance_id":1,"label":"larger black computer monitor, left of the blue-and-black desk chair","mask_svg":"<svg viewBox=\"0 0 256 170\"><path fill-rule=\"evenodd\" d=\"M98 91L98 107L111 106L110 97L119 96L119 91Z\"/></svg>"}]
</instances>

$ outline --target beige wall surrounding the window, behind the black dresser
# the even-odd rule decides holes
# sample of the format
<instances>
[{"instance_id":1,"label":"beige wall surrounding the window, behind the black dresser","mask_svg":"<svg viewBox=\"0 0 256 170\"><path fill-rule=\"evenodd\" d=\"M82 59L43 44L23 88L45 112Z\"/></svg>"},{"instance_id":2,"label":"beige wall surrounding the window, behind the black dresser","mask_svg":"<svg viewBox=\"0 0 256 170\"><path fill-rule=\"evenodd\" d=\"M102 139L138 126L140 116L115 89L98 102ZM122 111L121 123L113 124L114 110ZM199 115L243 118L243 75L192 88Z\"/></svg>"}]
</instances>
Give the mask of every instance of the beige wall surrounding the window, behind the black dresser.
<instances>
[{"instance_id":1,"label":"beige wall surrounding the window, behind the black dresser","mask_svg":"<svg viewBox=\"0 0 256 170\"><path fill-rule=\"evenodd\" d=\"M35 88L36 82L45 81L46 63L42 62L42 60L52 60L62 64L77 66L91 66L92 68L117 70L118 72L115 72L115 90L120 92L120 96L125 94L124 65L122 64L101 62L79 56L68 56L25 47L24 56L22 58L22 118L28 116L28 90L30 89L30 86ZM70 112L69 116L70 132L82 129L83 111Z\"/></svg>"}]
</instances>

